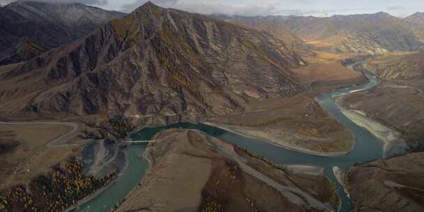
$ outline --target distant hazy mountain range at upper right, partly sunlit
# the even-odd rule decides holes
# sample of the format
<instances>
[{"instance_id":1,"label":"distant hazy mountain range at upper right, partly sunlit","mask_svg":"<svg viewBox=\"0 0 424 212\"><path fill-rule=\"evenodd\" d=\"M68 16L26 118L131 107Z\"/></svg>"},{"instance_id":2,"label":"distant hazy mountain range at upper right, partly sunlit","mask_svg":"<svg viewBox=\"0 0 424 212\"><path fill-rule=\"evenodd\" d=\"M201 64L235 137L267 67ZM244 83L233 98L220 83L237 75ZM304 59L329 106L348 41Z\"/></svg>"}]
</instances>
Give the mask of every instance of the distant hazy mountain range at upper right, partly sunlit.
<instances>
[{"instance_id":1,"label":"distant hazy mountain range at upper right, partly sunlit","mask_svg":"<svg viewBox=\"0 0 424 212\"><path fill-rule=\"evenodd\" d=\"M406 20L387 13L368 15L334 15L332 17L268 16L243 18L238 22L262 27L278 26L296 36L333 52L365 52L421 50L423 43Z\"/></svg>"}]
</instances>

